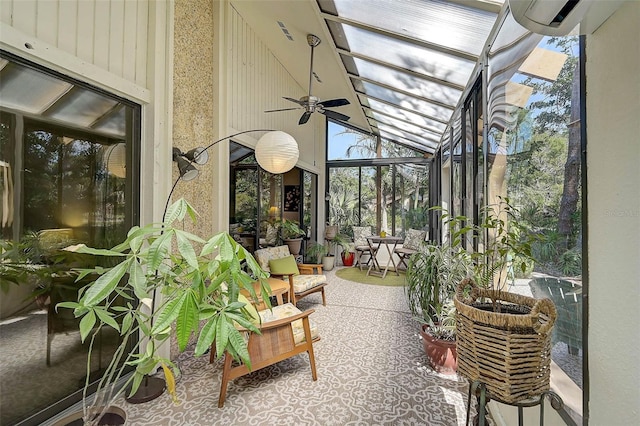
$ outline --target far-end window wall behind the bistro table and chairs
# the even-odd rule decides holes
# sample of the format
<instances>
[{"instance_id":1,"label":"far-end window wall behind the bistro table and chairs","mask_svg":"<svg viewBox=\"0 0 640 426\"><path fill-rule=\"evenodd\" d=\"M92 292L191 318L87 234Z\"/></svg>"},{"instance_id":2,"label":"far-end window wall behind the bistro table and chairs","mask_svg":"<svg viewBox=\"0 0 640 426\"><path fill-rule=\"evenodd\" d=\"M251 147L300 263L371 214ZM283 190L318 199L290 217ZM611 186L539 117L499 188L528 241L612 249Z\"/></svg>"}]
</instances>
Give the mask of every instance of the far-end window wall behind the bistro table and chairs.
<instances>
[{"instance_id":1,"label":"far-end window wall behind the bistro table and chairs","mask_svg":"<svg viewBox=\"0 0 640 426\"><path fill-rule=\"evenodd\" d=\"M328 132L329 224L345 235L353 226L401 237L409 228L428 229L424 154L332 122Z\"/></svg>"}]
</instances>

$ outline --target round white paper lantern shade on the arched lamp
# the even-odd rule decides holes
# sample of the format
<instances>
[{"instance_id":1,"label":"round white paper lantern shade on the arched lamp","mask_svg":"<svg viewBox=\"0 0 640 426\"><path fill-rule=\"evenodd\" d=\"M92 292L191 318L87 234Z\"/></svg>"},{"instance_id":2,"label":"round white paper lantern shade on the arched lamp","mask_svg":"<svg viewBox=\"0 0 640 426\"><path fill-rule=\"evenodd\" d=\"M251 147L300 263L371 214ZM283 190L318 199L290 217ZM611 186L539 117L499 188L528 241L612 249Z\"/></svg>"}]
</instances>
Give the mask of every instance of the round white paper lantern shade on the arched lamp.
<instances>
[{"instance_id":1,"label":"round white paper lantern shade on the arched lamp","mask_svg":"<svg viewBox=\"0 0 640 426\"><path fill-rule=\"evenodd\" d=\"M256 160L269 173L288 172L298 162L299 155L293 136L279 130L266 133L256 144Z\"/></svg>"}]
</instances>

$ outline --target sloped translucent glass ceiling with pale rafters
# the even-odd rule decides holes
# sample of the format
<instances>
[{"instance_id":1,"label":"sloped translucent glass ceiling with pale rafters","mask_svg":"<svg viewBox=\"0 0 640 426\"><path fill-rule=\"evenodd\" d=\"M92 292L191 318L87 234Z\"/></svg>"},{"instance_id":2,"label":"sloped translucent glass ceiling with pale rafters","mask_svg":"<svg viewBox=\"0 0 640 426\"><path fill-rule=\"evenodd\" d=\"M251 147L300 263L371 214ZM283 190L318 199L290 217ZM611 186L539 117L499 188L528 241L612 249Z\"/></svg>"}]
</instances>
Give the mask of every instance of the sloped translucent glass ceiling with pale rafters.
<instances>
[{"instance_id":1,"label":"sloped translucent glass ceiling with pale rafters","mask_svg":"<svg viewBox=\"0 0 640 426\"><path fill-rule=\"evenodd\" d=\"M376 135L431 154L503 0L317 0Z\"/></svg>"}]
</instances>

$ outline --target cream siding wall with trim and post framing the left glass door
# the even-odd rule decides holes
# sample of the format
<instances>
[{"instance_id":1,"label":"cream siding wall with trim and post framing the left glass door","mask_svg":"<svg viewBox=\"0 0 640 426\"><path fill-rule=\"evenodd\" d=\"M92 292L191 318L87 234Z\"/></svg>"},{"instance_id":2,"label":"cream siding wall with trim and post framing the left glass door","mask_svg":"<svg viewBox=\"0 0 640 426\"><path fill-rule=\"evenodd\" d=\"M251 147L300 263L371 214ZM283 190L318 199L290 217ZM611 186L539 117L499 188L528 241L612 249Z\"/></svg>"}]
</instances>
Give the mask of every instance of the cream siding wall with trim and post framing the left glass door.
<instances>
[{"instance_id":1,"label":"cream siding wall with trim and post framing the left glass door","mask_svg":"<svg viewBox=\"0 0 640 426\"><path fill-rule=\"evenodd\" d=\"M170 188L173 3L0 0L0 48L142 106L141 218Z\"/></svg>"}]
</instances>

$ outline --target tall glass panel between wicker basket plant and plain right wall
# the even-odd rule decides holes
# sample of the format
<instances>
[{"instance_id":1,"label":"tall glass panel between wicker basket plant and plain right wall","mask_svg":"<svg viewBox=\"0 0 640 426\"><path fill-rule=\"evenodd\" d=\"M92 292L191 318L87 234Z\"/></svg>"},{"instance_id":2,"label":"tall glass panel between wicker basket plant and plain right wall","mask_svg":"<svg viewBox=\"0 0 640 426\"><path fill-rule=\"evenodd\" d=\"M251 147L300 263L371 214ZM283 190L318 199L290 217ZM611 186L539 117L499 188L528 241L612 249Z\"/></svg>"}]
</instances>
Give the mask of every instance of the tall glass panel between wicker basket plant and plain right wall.
<instances>
[{"instance_id":1,"label":"tall glass panel between wicker basket plant and plain right wall","mask_svg":"<svg viewBox=\"0 0 640 426\"><path fill-rule=\"evenodd\" d=\"M487 202L508 197L542 237L511 291L550 297L558 309L552 387L582 424L582 228L579 39L522 35L507 16L489 55ZM518 36L516 39L514 37ZM532 270L533 269L533 273Z\"/></svg>"}]
</instances>

